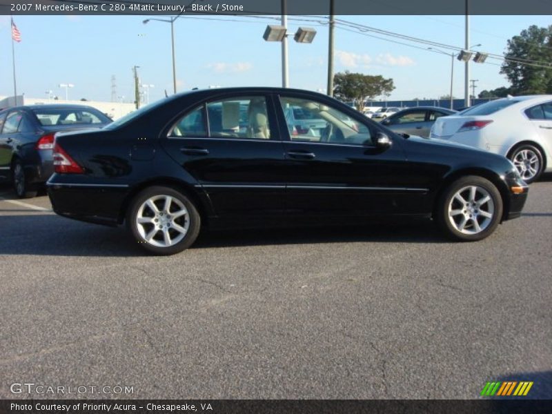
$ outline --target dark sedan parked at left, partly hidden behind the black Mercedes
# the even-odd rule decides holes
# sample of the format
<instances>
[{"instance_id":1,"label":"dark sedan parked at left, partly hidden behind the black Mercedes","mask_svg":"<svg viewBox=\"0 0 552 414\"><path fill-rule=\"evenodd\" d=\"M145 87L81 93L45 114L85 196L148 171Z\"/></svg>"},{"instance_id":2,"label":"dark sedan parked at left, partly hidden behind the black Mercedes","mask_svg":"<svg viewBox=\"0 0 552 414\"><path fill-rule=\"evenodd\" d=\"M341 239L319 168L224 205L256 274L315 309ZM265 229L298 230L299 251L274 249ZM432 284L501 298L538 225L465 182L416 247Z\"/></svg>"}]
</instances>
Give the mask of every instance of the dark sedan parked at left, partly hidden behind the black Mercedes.
<instances>
[{"instance_id":1,"label":"dark sedan parked at left, partly hidden behind the black Mercedes","mask_svg":"<svg viewBox=\"0 0 552 414\"><path fill-rule=\"evenodd\" d=\"M84 105L16 106L0 111L0 182L11 181L18 197L34 197L54 168L52 149L59 131L101 128L111 122Z\"/></svg>"}]
</instances>

